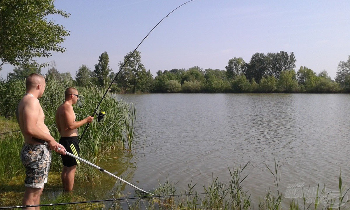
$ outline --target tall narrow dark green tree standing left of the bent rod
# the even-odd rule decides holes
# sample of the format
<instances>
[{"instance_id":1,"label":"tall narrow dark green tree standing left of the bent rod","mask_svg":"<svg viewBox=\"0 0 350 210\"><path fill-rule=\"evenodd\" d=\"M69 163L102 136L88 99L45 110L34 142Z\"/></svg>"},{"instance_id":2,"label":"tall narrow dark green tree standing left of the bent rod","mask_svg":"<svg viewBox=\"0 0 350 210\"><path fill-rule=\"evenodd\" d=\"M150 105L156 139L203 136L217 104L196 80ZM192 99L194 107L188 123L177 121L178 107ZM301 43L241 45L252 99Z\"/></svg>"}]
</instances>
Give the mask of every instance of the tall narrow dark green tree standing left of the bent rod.
<instances>
[{"instance_id":1,"label":"tall narrow dark green tree standing left of the bent rod","mask_svg":"<svg viewBox=\"0 0 350 210\"><path fill-rule=\"evenodd\" d=\"M97 78L98 84L101 86L107 86L110 84L109 74L112 71L110 69L109 57L107 52L102 52L99 57L98 63L95 64L95 69L93 70L93 76Z\"/></svg>"}]
</instances>

